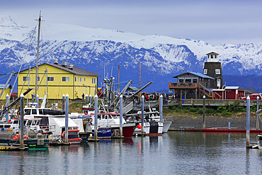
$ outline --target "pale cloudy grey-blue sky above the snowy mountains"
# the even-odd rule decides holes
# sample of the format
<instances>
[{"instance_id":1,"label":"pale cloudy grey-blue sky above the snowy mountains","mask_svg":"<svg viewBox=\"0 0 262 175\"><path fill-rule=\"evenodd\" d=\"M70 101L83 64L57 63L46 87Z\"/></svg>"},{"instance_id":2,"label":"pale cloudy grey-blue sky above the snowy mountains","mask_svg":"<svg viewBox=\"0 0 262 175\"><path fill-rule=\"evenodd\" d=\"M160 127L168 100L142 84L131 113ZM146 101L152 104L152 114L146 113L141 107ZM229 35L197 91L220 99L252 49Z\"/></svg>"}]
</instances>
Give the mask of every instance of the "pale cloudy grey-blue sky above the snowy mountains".
<instances>
[{"instance_id":1,"label":"pale cloudy grey-blue sky above the snowy mountains","mask_svg":"<svg viewBox=\"0 0 262 175\"><path fill-rule=\"evenodd\" d=\"M261 0L2 0L0 15L34 27L41 11L45 23L237 45L262 43L261 7Z\"/></svg>"}]
</instances>

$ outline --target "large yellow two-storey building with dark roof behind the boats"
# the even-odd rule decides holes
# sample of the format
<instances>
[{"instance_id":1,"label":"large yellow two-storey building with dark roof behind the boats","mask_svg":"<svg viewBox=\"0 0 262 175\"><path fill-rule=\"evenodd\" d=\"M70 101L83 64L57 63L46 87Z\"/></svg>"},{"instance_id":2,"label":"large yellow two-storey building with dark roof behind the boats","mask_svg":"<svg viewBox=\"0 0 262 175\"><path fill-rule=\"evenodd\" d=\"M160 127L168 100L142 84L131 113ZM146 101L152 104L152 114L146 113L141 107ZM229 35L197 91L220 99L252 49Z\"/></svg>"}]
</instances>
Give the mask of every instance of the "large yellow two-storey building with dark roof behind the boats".
<instances>
[{"instance_id":1,"label":"large yellow two-storey building with dark roof behind the boats","mask_svg":"<svg viewBox=\"0 0 262 175\"><path fill-rule=\"evenodd\" d=\"M70 99L82 98L91 94L95 96L98 74L74 67L73 64L40 64L38 66L38 96L43 98L48 93L49 99L62 99L63 94ZM35 67L25 69L18 74L18 93L28 88L33 89L25 98L32 98L35 94Z\"/></svg>"}]
</instances>

